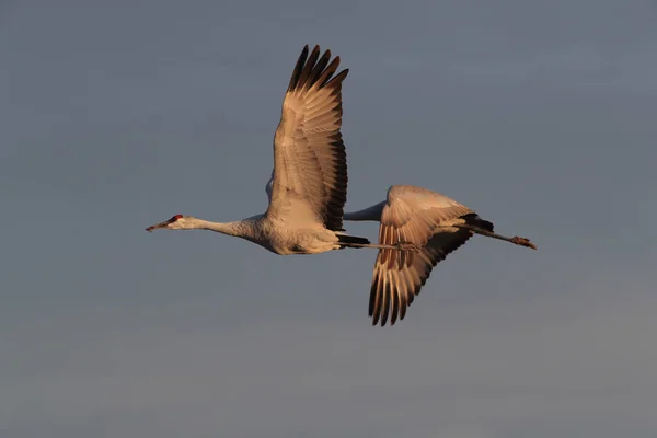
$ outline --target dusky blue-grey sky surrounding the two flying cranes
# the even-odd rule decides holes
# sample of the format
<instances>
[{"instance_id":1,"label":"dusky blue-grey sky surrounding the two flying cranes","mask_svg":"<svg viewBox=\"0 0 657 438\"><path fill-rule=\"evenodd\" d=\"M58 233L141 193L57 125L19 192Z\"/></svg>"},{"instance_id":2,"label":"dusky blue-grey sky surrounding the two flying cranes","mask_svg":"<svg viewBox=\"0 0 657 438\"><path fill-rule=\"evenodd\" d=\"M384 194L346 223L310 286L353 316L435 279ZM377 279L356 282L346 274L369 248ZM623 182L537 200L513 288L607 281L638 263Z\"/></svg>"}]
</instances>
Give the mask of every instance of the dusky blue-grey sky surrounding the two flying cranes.
<instances>
[{"instance_id":1,"label":"dusky blue-grey sky surrounding the two flying cranes","mask_svg":"<svg viewBox=\"0 0 657 438\"><path fill-rule=\"evenodd\" d=\"M655 437L654 1L1 4L3 438ZM374 251L145 232L266 209L304 44L348 210L416 184L539 251L475 238L380 328Z\"/></svg>"}]
</instances>

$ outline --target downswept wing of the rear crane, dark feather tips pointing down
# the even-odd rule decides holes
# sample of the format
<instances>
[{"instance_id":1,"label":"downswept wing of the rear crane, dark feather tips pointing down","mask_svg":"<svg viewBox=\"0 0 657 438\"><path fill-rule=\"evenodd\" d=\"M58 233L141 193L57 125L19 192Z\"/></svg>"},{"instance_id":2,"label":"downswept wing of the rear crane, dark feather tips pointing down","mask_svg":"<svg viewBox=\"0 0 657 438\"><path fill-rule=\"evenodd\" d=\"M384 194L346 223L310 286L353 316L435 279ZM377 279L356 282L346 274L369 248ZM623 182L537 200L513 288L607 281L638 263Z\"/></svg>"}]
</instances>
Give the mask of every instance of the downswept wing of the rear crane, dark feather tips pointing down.
<instances>
[{"instance_id":1,"label":"downswept wing of the rear crane, dark feather tips pointing down","mask_svg":"<svg viewBox=\"0 0 657 438\"><path fill-rule=\"evenodd\" d=\"M381 215L379 243L411 242L419 251L379 250L370 290L372 324L404 319L431 269L472 237L470 230L449 227L465 223L468 207L439 193L414 186L392 186Z\"/></svg>"}]
</instances>

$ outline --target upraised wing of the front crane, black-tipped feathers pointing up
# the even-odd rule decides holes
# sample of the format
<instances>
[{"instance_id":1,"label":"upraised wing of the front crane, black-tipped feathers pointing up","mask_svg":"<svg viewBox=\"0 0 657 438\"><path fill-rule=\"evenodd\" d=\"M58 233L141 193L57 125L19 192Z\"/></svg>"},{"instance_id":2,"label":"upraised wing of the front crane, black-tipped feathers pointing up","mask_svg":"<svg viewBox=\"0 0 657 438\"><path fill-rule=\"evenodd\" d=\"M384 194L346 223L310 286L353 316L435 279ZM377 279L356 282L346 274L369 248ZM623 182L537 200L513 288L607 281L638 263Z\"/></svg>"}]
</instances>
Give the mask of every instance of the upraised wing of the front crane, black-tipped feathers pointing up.
<instances>
[{"instance_id":1,"label":"upraised wing of the front crane, black-tipped feathers pointing up","mask_svg":"<svg viewBox=\"0 0 657 438\"><path fill-rule=\"evenodd\" d=\"M347 200L347 158L339 131L342 83L348 70L335 74L339 57L320 58L301 51L283 101L274 137L274 175L267 216L299 219L299 212L342 231ZM301 215L303 216L303 215ZM304 218L306 219L306 218Z\"/></svg>"}]
</instances>

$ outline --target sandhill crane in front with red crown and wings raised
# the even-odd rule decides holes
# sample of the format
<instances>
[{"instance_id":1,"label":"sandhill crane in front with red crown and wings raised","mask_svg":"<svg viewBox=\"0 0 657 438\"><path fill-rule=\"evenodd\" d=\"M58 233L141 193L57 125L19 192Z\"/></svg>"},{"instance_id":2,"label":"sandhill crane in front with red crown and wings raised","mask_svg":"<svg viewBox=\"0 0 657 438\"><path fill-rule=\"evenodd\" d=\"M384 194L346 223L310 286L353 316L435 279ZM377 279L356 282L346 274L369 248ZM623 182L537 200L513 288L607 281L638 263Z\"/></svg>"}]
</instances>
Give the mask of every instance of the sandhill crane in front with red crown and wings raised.
<instances>
[{"instance_id":1,"label":"sandhill crane in front with red crown and wings raised","mask_svg":"<svg viewBox=\"0 0 657 438\"><path fill-rule=\"evenodd\" d=\"M276 254L316 254L343 247L412 249L371 244L342 228L347 199L347 159L343 143L342 83L348 70L335 74L339 57L331 51L310 57L303 47L283 101L274 136L274 171L269 207L263 215L233 222L210 222L175 215L148 227L210 230L254 242Z\"/></svg>"}]
</instances>

